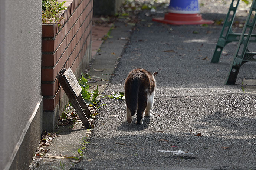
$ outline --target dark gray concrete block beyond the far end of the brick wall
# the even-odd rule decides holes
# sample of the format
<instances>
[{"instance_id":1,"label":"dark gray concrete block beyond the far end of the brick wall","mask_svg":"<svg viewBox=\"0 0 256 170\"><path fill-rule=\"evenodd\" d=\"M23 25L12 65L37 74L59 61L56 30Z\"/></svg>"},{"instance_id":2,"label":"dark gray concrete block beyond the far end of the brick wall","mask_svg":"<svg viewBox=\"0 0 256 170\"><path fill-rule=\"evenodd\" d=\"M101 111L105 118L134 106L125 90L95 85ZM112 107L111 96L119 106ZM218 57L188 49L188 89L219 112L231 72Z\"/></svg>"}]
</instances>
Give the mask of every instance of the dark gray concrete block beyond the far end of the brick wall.
<instances>
[{"instance_id":1,"label":"dark gray concrete block beyond the far end of the brick wall","mask_svg":"<svg viewBox=\"0 0 256 170\"><path fill-rule=\"evenodd\" d=\"M124 0L93 0L93 15L115 15Z\"/></svg>"}]
</instances>

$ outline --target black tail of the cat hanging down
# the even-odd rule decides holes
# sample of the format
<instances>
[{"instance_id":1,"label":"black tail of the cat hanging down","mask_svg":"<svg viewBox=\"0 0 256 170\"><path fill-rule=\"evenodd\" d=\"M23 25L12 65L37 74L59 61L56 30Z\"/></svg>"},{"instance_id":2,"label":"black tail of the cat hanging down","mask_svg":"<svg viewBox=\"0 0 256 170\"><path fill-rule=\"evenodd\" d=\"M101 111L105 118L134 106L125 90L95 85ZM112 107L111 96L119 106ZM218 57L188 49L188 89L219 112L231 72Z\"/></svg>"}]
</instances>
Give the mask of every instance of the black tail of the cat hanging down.
<instances>
[{"instance_id":1,"label":"black tail of the cat hanging down","mask_svg":"<svg viewBox=\"0 0 256 170\"><path fill-rule=\"evenodd\" d=\"M130 86L130 94L129 94L129 103L130 103L130 111L131 111L131 116L135 115L135 112L137 110L138 107L138 96L139 96L139 86L140 86L140 82L138 81L138 79L133 79L133 81L131 82L131 86Z\"/></svg>"}]
</instances>

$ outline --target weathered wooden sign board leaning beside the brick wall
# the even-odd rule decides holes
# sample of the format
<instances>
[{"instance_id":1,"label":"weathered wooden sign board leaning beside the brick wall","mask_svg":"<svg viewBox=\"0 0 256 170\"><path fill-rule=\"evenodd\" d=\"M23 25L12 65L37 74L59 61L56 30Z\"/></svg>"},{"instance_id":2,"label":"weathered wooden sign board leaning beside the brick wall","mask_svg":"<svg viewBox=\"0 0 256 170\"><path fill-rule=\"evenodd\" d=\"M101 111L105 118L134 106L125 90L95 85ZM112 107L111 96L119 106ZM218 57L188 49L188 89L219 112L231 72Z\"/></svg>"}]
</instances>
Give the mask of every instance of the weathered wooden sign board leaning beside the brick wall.
<instances>
[{"instance_id":1,"label":"weathered wooden sign board leaning beside the brick wall","mask_svg":"<svg viewBox=\"0 0 256 170\"><path fill-rule=\"evenodd\" d=\"M80 92L82 88L80 87L76 77L71 70L71 68L64 68L60 71L60 74L57 76L60 85L62 86L64 92L69 98L69 101L72 103L73 107L76 110L79 118L82 120L83 125L86 128L91 128L92 125L89 122L86 116L91 115L91 111L89 110L88 106L86 105L83 97L81 96Z\"/></svg>"}]
</instances>

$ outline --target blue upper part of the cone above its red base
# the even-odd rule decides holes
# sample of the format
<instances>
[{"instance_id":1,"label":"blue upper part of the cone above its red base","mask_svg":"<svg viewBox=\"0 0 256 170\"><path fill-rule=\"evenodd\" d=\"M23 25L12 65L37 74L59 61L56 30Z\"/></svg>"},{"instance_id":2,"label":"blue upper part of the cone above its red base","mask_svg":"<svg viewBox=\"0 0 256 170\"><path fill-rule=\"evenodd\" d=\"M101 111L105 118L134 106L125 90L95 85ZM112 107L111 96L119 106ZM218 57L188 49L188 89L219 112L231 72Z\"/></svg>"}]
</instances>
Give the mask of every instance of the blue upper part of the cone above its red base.
<instances>
[{"instance_id":1,"label":"blue upper part of the cone above its red base","mask_svg":"<svg viewBox=\"0 0 256 170\"><path fill-rule=\"evenodd\" d=\"M198 0L170 0L169 13L197 14L200 12Z\"/></svg>"}]
</instances>

